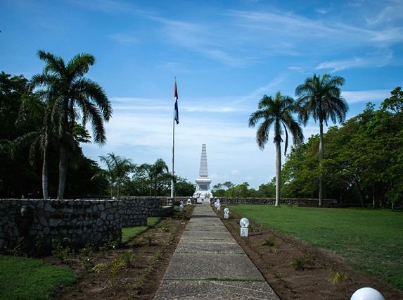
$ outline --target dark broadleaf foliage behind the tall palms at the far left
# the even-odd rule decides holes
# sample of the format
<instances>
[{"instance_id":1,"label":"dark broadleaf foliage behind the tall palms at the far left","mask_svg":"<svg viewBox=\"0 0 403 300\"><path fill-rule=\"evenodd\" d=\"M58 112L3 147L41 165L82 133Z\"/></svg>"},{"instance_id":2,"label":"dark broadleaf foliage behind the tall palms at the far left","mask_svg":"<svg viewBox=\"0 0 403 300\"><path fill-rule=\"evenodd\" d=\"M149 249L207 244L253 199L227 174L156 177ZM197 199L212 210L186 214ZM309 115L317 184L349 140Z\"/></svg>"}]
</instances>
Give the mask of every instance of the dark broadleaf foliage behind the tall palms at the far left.
<instances>
[{"instance_id":1,"label":"dark broadleaf foliage behind the tall palms at the far left","mask_svg":"<svg viewBox=\"0 0 403 300\"><path fill-rule=\"evenodd\" d=\"M45 138L44 115L46 103L34 94L29 82L22 75L0 74L0 197L40 198L41 173L43 174L43 142ZM88 142L89 134L82 125L75 124L73 135L79 142ZM49 139L49 194L57 194L58 146ZM81 149L79 149L81 150ZM105 180L92 180L101 168L85 158L82 151L70 159L68 185L69 195L105 194ZM18 172L15 172L18 170Z\"/></svg>"}]
</instances>

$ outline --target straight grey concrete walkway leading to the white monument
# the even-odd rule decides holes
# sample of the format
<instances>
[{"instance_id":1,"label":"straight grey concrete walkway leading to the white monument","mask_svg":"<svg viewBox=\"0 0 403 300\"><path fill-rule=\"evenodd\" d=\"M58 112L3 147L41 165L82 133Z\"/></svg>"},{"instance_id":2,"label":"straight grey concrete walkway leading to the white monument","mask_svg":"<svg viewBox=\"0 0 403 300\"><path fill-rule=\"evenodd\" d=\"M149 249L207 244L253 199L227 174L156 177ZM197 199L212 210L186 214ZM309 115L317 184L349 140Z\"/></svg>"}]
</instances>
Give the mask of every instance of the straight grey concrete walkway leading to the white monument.
<instances>
[{"instance_id":1,"label":"straight grey concrete walkway leading to the white monument","mask_svg":"<svg viewBox=\"0 0 403 300\"><path fill-rule=\"evenodd\" d=\"M210 203L198 204L154 299L279 299Z\"/></svg>"}]
</instances>

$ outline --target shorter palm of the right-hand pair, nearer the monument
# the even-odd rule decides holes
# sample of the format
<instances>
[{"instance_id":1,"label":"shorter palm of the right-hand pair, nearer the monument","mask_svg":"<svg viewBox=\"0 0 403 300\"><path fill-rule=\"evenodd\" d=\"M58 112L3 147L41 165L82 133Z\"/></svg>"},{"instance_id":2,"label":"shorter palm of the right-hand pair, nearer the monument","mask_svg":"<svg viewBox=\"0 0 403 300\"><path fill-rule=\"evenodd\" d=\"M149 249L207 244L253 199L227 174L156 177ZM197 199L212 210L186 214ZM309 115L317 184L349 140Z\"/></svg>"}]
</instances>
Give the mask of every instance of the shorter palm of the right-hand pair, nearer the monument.
<instances>
[{"instance_id":1,"label":"shorter palm of the right-hand pair, nearer the monument","mask_svg":"<svg viewBox=\"0 0 403 300\"><path fill-rule=\"evenodd\" d=\"M280 204L281 187L281 136L286 135L286 144L284 155L288 147L288 130L293 136L293 144L300 144L304 139L302 129L297 121L294 120L292 113L296 112L294 99L290 96L281 96L280 92L271 97L264 95L257 104L258 110L252 113L249 118L249 127L255 125L262 119L262 123L257 128L256 142L263 151L264 144L269 140L269 131L274 126L273 142L276 145L276 206Z\"/></svg>"}]
</instances>

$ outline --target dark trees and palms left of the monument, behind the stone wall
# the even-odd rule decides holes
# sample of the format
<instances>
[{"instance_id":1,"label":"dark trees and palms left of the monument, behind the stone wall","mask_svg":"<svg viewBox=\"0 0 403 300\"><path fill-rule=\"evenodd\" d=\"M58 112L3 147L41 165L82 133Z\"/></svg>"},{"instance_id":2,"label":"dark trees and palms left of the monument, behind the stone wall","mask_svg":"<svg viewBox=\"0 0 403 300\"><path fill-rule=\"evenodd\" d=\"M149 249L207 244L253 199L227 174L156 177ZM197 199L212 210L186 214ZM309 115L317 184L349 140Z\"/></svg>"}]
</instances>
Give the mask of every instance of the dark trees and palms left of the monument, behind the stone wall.
<instances>
[{"instance_id":1,"label":"dark trees and palms left of the monument, behind the stone wall","mask_svg":"<svg viewBox=\"0 0 403 300\"><path fill-rule=\"evenodd\" d=\"M67 63L43 50L37 56L45 65L31 80L0 73L0 197L167 196L172 177L162 159L135 165L108 154L102 169L82 153L80 143L91 142L86 124L103 145L113 114L103 88L84 76L94 56L77 54ZM196 189L179 176L174 182L178 196Z\"/></svg>"}]
</instances>

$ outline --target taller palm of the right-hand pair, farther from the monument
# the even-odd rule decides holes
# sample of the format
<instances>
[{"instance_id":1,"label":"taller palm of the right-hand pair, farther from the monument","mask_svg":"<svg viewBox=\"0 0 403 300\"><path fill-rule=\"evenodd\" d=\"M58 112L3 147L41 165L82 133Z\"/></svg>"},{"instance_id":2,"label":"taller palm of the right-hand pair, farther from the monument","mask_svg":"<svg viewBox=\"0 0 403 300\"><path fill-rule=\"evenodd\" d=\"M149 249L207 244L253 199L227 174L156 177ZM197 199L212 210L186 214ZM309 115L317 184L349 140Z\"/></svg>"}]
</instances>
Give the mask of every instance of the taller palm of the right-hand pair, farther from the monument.
<instances>
[{"instance_id":1,"label":"taller palm of the right-hand pair, farther from the monument","mask_svg":"<svg viewBox=\"0 0 403 300\"><path fill-rule=\"evenodd\" d=\"M309 118L319 120L319 167L324 159L324 123L328 125L328 119L333 123L345 121L348 104L341 96L340 86L344 85L345 79L340 76L324 74L307 77L302 85L295 89L298 96L297 105L300 107L298 118L306 126ZM324 180L319 176L319 206L324 199Z\"/></svg>"}]
</instances>

